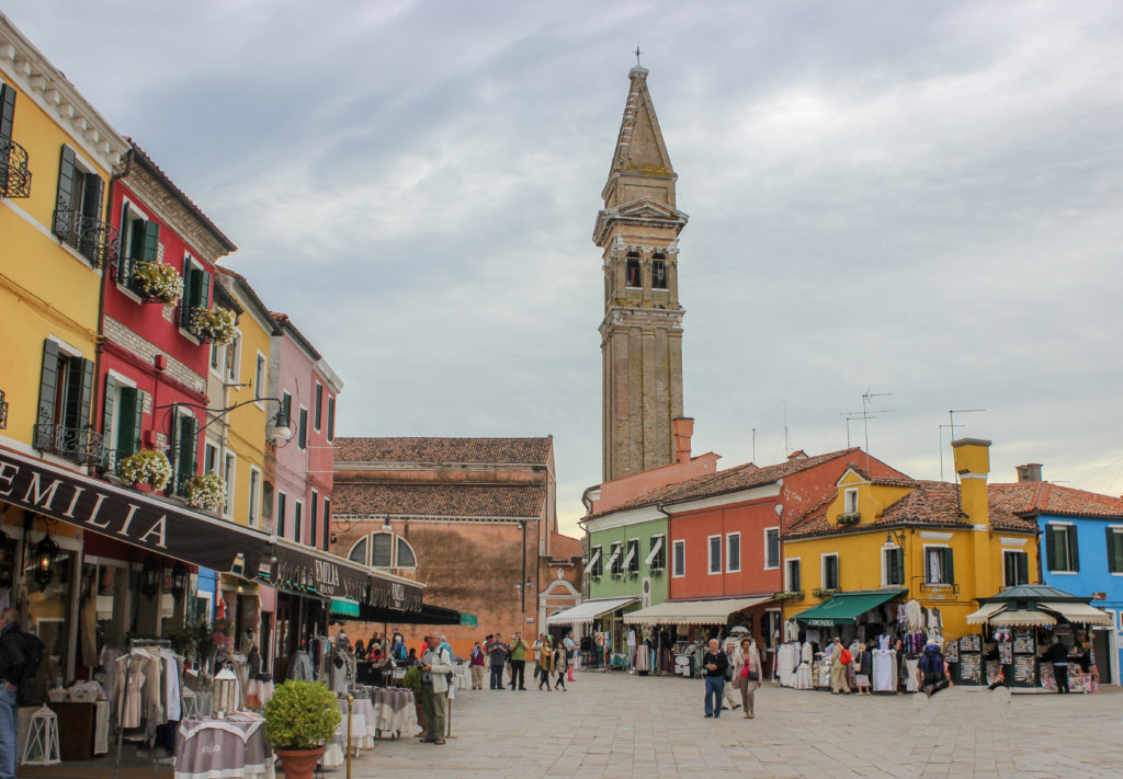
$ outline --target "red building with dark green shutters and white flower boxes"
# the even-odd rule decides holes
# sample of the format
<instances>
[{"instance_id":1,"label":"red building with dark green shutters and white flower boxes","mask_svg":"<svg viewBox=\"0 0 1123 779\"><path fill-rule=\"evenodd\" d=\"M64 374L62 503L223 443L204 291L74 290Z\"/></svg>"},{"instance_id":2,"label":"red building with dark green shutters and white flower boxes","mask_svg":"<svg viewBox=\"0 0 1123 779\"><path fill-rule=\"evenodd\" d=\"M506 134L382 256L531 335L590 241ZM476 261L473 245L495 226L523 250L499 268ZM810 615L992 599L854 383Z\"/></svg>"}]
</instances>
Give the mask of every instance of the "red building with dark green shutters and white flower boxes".
<instances>
[{"instance_id":1,"label":"red building with dark green shutters and white flower boxes","mask_svg":"<svg viewBox=\"0 0 1123 779\"><path fill-rule=\"evenodd\" d=\"M120 248L102 279L93 393L95 427L104 437L101 471L113 478L125 457L159 451L173 473L163 492L174 494L199 470L202 456L210 338L192 314L211 305L214 262L237 247L136 145L122 163L109 194ZM99 604L113 604L98 614L104 641L119 647L128 632L154 634L165 620L182 621L182 593L176 588L173 598L167 592L177 568L173 560L93 533L84 552L84 586L97 587ZM159 592L131 593L130 565L162 569Z\"/></svg>"}]
</instances>

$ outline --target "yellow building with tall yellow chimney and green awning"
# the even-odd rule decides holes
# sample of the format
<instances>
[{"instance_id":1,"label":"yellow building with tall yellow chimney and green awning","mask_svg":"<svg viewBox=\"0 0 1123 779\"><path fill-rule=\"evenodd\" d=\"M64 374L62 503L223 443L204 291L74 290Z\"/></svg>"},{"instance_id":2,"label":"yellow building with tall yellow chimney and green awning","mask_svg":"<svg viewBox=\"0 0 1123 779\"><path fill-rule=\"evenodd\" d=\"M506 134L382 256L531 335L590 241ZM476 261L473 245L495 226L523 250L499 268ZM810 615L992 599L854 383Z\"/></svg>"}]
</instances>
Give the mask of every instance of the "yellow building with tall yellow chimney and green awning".
<instances>
[{"instance_id":1,"label":"yellow building with tall yellow chimney and green awning","mask_svg":"<svg viewBox=\"0 0 1123 779\"><path fill-rule=\"evenodd\" d=\"M975 598L1037 580L1037 525L990 505L989 441L952 442L960 484L871 478L851 467L838 492L784 537L784 616L807 625L884 624L887 607L937 608L946 639L977 632Z\"/></svg>"}]
</instances>

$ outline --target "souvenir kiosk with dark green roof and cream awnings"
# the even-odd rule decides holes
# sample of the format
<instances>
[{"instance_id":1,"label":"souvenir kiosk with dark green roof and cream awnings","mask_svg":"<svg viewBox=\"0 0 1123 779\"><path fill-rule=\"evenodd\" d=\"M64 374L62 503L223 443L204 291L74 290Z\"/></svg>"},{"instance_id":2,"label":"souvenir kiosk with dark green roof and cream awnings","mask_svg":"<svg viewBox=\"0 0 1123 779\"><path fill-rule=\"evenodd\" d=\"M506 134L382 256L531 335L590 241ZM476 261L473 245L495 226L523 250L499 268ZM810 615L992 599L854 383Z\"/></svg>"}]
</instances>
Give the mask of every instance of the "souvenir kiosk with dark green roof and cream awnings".
<instances>
[{"instance_id":1,"label":"souvenir kiosk with dark green roof and cream awnings","mask_svg":"<svg viewBox=\"0 0 1123 779\"><path fill-rule=\"evenodd\" d=\"M980 625L982 633L958 641L955 676L965 685L1002 681L1015 689L1056 690L1052 663L1041 656L1059 639L1068 649L1069 691L1099 691L1092 630L1111 625L1112 616L1089 602L1042 585L1020 585L979 598L978 611L967 622ZM964 652L965 643L971 651Z\"/></svg>"}]
</instances>

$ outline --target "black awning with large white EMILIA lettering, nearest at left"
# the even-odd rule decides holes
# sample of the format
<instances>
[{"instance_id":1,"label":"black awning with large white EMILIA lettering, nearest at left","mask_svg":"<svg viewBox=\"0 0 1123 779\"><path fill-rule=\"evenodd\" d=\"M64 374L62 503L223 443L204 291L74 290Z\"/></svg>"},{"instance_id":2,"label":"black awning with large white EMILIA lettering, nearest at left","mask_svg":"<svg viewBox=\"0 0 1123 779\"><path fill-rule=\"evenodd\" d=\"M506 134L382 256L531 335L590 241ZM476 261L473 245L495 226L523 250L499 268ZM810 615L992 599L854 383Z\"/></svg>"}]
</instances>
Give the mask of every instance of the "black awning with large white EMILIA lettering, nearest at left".
<instances>
[{"instance_id":1,"label":"black awning with large white EMILIA lettering, nearest at left","mask_svg":"<svg viewBox=\"0 0 1123 779\"><path fill-rule=\"evenodd\" d=\"M0 501L185 562L229 571L265 537L0 448Z\"/></svg>"}]
</instances>

